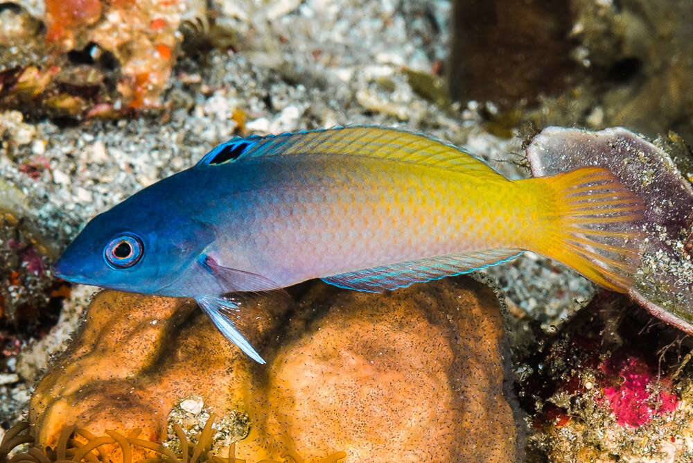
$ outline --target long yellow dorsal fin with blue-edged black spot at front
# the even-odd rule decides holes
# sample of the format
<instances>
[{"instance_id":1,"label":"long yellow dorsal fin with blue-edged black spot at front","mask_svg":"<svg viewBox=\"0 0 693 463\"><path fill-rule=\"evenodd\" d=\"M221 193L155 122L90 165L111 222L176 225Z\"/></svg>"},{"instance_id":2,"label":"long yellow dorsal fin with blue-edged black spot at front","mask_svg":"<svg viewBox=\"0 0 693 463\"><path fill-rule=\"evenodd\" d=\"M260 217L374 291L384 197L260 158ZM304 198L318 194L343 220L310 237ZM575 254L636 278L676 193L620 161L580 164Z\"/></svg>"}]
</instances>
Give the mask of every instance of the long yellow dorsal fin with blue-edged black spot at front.
<instances>
[{"instance_id":1,"label":"long yellow dorsal fin with blue-edged black spot at front","mask_svg":"<svg viewBox=\"0 0 693 463\"><path fill-rule=\"evenodd\" d=\"M484 161L448 143L405 130L369 126L236 137L207 153L198 166L306 154L377 157L452 171L493 171Z\"/></svg>"}]
</instances>

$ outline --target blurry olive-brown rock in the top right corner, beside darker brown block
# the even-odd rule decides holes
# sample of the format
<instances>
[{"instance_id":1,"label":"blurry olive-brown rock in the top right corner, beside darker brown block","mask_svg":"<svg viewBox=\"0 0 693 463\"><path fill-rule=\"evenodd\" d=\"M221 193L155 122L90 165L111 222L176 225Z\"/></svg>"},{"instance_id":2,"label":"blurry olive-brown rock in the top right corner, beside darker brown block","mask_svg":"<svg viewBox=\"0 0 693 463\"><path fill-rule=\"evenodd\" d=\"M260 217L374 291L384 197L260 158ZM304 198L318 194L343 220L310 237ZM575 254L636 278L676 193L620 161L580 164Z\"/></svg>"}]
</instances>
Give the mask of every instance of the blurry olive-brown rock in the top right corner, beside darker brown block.
<instances>
[{"instance_id":1,"label":"blurry olive-brown rock in the top right corner, beside darker brown block","mask_svg":"<svg viewBox=\"0 0 693 463\"><path fill-rule=\"evenodd\" d=\"M681 130L690 137L690 123L683 121L693 114L688 91L693 61L681 57L693 53L693 30L685 19L693 14L693 3L609 3L576 4L584 24L597 24L578 38L593 60L606 64L606 78L612 82L602 95L606 107L602 127L625 125L648 135ZM664 36L667 40L656 38ZM609 45L605 49L603 44Z\"/></svg>"}]
</instances>

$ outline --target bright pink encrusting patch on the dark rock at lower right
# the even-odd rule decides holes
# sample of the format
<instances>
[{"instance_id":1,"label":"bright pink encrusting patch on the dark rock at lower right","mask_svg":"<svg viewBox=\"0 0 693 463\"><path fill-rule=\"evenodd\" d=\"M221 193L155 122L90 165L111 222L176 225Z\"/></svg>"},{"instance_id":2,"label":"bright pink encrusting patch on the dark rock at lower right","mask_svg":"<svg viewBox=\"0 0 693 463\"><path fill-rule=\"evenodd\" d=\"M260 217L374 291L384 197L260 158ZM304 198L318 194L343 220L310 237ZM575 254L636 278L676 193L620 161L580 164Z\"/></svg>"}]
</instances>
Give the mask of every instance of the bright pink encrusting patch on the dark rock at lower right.
<instances>
[{"instance_id":1,"label":"bright pink encrusting patch on the dark rock at lower right","mask_svg":"<svg viewBox=\"0 0 693 463\"><path fill-rule=\"evenodd\" d=\"M600 367L607 381L620 383L604 387L604 399L620 426L636 428L651 421L654 414L673 412L678 407L678 398L671 392L671 383L662 380L663 390L653 391L649 386L652 372L642 358L627 356L617 362L608 362ZM620 382L617 378L620 378Z\"/></svg>"}]
</instances>

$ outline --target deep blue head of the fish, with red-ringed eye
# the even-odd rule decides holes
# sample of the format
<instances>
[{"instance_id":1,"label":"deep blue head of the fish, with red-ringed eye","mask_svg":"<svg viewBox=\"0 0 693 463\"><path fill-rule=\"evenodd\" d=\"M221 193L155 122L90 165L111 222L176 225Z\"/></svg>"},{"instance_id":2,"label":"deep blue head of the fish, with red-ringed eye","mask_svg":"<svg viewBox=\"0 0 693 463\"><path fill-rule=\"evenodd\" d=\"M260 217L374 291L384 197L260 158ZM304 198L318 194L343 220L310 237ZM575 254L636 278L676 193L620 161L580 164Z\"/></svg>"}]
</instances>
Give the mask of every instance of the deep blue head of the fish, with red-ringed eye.
<instances>
[{"instance_id":1,"label":"deep blue head of the fish, with red-ringed eye","mask_svg":"<svg viewBox=\"0 0 693 463\"><path fill-rule=\"evenodd\" d=\"M166 216L134 195L93 218L53 265L74 283L143 294L167 294L211 241L200 222L167 211Z\"/></svg>"}]
</instances>

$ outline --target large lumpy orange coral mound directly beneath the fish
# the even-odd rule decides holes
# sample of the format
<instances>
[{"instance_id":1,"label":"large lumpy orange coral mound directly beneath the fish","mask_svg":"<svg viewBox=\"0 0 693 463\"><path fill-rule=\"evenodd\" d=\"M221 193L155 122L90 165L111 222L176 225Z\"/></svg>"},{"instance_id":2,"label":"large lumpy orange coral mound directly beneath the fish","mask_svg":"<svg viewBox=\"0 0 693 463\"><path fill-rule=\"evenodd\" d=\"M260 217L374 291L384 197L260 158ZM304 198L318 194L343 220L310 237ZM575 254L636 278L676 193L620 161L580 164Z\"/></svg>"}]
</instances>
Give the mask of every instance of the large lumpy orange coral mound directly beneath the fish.
<instances>
[{"instance_id":1,"label":"large lumpy orange coral mound directly beneath the fish","mask_svg":"<svg viewBox=\"0 0 693 463\"><path fill-rule=\"evenodd\" d=\"M518 459L502 320L480 283L445 279L383 295L316 283L296 302L269 294L243 305L267 366L191 301L100 292L36 388L40 445L54 445L68 423L95 435L137 427L163 442L171 410L204 404L202 413L234 417L236 428L249 417L234 450L249 462L341 451L344 462Z\"/></svg>"}]
</instances>

